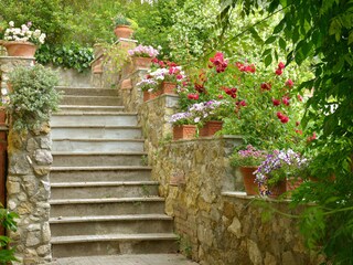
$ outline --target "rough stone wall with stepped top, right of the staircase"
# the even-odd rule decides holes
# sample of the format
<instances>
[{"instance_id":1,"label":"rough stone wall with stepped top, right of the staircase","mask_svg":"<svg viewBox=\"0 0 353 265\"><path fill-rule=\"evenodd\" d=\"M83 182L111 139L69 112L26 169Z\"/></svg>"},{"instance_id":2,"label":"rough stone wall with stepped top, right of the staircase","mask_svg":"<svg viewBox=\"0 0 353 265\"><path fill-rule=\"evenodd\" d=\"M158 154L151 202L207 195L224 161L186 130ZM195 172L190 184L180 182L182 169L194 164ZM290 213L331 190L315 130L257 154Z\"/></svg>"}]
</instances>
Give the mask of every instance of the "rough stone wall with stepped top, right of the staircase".
<instances>
[{"instance_id":1,"label":"rough stone wall with stepped top, right of the staircase","mask_svg":"<svg viewBox=\"0 0 353 265\"><path fill-rule=\"evenodd\" d=\"M132 83L129 95L138 93ZM304 248L295 220L274 215L263 222L267 210L239 191L244 184L228 156L240 137L173 141L168 120L176 110L178 97L140 100L138 107L133 100L125 103L139 113L152 178L160 182L165 212L174 218L181 252L204 265L318 264ZM267 205L293 213L288 202L268 201Z\"/></svg>"}]
</instances>

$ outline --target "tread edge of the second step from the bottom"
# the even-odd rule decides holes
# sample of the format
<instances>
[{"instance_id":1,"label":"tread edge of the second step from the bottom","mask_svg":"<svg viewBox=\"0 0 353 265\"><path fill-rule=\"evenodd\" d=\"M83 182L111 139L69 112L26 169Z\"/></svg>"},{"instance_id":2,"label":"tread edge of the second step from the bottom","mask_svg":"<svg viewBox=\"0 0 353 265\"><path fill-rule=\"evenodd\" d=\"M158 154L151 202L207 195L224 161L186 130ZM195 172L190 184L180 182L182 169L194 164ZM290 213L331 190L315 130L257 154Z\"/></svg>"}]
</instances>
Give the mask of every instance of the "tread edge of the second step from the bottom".
<instances>
[{"instance_id":1,"label":"tread edge of the second step from the bottom","mask_svg":"<svg viewBox=\"0 0 353 265\"><path fill-rule=\"evenodd\" d=\"M161 220L171 221L173 218L167 214L121 214L121 215L104 215L104 216L61 216L51 218L50 223L82 223L82 222L110 222L110 221L150 221L150 220Z\"/></svg>"}]
</instances>

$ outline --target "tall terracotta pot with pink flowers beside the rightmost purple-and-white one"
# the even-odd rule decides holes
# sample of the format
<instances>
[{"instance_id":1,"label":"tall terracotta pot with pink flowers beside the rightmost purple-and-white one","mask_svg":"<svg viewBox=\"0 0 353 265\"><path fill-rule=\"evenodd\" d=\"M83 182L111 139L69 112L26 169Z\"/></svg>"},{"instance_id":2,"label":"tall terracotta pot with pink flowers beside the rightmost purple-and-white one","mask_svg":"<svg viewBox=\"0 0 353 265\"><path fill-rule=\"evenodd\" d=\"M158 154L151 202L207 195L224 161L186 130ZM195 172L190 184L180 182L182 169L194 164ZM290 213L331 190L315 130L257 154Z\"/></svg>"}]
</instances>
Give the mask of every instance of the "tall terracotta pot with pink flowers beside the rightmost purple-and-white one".
<instances>
[{"instance_id":1,"label":"tall terracotta pot with pink flowers beside the rightmost purple-and-white one","mask_svg":"<svg viewBox=\"0 0 353 265\"><path fill-rule=\"evenodd\" d=\"M239 169L247 195L259 194L255 172L265 159L266 151L258 150L252 145L246 146L246 149L236 150L231 157L231 165Z\"/></svg>"}]
</instances>

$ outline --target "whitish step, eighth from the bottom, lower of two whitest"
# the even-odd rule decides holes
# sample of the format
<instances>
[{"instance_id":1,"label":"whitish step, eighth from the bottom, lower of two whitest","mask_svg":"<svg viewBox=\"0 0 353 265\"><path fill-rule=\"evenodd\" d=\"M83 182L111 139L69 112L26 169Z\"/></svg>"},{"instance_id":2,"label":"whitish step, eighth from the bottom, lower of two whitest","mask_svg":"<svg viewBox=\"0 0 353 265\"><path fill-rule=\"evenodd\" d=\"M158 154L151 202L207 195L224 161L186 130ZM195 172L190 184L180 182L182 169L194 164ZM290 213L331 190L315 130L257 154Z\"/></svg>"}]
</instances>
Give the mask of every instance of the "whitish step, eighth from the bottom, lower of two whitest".
<instances>
[{"instance_id":1,"label":"whitish step, eighth from the bottom, lower of two whitest","mask_svg":"<svg viewBox=\"0 0 353 265\"><path fill-rule=\"evenodd\" d=\"M137 126L52 126L53 139L117 138L141 139L141 128Z\"/></svg>"}]
</instances>

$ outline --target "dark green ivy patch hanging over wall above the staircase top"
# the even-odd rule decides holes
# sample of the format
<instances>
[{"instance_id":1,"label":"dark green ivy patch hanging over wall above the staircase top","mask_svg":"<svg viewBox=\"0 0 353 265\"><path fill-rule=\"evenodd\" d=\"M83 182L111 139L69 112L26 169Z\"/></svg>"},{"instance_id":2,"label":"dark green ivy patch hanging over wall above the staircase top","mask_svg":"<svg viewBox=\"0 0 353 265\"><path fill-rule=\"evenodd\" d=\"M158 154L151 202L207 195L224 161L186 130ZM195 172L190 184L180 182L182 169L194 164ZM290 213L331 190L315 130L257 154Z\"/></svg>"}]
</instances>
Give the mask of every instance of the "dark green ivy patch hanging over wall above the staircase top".
<instances>
[{"instance_id":1,"label":"dark green ivy patch hanging over wall above the staircase top","mask_svg":"<svg viewBox=\"0 0 353 265\"><path fill-rule=\"evenodd\" d=\"M44 44L36 51L35 59L41 64L53 64L83 72L90 67L93 49L72 42L67 45Z\"/></svg>"}]
</instances>

